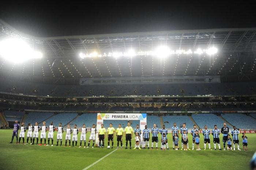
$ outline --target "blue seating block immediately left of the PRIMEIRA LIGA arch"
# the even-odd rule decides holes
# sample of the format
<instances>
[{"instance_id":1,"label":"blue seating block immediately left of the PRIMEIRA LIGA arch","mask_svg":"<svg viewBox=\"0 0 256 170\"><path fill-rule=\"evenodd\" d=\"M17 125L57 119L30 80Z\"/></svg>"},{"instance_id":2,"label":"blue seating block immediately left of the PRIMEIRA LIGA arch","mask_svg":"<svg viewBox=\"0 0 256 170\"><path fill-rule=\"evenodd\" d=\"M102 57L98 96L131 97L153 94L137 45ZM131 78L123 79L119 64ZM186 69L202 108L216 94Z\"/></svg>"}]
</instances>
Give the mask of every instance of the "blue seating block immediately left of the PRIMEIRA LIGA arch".
<instances>
[{"instance_id":1,"label":"blue seating block immediately left of the PRIMEIRA LIGA arch","mask_svg":"<svg viewBox=\"0 0 256 170\"><path fill-rule=\"evenodd\" d=\"M97 113L84 113L69 123L71 128L74 127L74 124L76 124L78 128L82 128L83 124L85 124L87 128L92 127L93 124L97 124ZM64 128L66 127L67 126Z\"/></svg>"}]
</instances>

